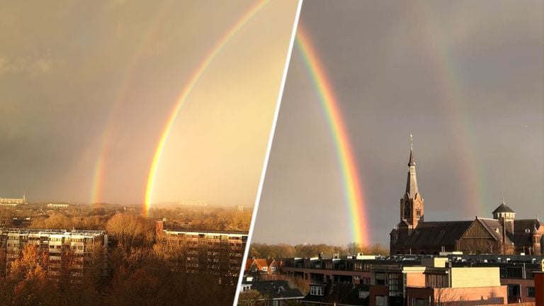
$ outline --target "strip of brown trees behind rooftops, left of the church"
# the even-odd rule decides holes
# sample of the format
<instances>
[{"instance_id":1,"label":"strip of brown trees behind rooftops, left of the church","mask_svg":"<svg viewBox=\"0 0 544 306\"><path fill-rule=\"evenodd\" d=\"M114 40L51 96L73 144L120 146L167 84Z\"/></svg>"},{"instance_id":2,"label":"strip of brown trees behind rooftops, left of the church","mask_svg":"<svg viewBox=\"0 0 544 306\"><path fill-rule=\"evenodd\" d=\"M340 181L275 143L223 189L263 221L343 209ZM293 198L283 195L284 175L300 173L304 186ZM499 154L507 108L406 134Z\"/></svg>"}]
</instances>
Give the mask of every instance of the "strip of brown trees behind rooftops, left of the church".
<instances>
[{"instance_id":1,"label":"strip of brown trees behind rooftops, left of the church","mask_svg":"<svg viewBox=\"0 0 544 306\"><path fill-rule=\"evenodd\" d=\"M362 246L356 243L350 243L347 246L332 246L329 244L261 244L253 243L249 248L249 256L256 258L291 258L291 257L316 257L319 254L324 256L339 256L356 255L363 253L365 255L389 255L389 249L384 248L381 244L373 244L372 246Z\"/></svg>"}]
</instances>

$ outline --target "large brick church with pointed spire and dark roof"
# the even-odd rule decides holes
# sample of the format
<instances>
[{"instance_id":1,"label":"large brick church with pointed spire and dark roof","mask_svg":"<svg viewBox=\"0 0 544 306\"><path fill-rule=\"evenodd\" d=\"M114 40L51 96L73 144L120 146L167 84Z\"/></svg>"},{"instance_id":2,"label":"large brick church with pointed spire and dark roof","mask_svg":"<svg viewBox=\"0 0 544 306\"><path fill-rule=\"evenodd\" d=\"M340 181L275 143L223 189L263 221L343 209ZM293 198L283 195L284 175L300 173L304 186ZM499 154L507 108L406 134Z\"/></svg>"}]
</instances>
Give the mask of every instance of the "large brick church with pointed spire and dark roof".
<instances>
[{"instance_id":1,"label":"large brick church with pointed spire and dark roof","mask_svg":"<svg viewBox=\"0 0 544 306\"><path fill-rule=\"evenodd\" d=\"M431 254L462 251L463 254L544 254L544 223L516 219L503 203L492 218L467 221L424 220L424 199L416 179L414 148L410 147L406 191L400 199L399 224L390 232L390 254Z\"/></svg>"}]
</instances>

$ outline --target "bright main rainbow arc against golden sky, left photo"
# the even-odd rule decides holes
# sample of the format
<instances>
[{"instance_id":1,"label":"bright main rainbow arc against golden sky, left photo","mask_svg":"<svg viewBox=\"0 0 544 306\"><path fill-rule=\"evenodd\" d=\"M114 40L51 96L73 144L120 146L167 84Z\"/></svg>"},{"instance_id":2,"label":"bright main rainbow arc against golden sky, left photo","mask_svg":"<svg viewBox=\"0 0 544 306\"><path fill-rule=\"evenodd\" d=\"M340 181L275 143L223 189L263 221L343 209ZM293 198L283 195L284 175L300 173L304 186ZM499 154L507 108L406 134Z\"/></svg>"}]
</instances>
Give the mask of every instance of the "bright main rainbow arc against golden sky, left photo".
<instances>
[{"instance_id":1,"label":"bright main rainbow arc against golden sky, left photo","mask_svg":"<svg viewBox=\"0 0 544 306\"><path fill-rule=\"evenodd\" d=\"M242 29L246 23L251 20L255 16L256 13L261 11L261 9L268 4L268 0L266 1L257 1L251 8L249 8L244 15L238 19L237 23L235 23L225 35L222 36L222 38L217 42L217 44L213 47L213 49L204 57L202 62L198 64L198 67L195 69L193 74L191 75L191 78L189 79L188 83L185 87L183 87L179 98L176 100L176 104L174 108L172 109L168 120L166 120L166 125L164 125L164 128L162 130L161 137L159 139L159 143L157 145L157 148L155 149L155 153L153 155L153 160L151 163L151 167L149 169L149 176L147 176L147 188L145 191L145 200L144 200L144 214L147 215L147 212L149 212L149 208L151 208L152 198L153 198L153 189L154 189L154 181L155 176L157 176L157 169L159 166L159 163L161 162L162 152L164 151L164 146L166 145L166 140L168 140L168 136L170 134L170 130L174 123L176 122L176 118L178 117L179 111L181 110L181 106L183 106L183 103L187 100L188 96L191 95L191 91L193 91L194 87L198 83L198 80L200 80L200 77L202 77L203 72L206 68L210 65L210 63L215 59L217 54L222 50L225 45L227 45L227 42L231 40L234 35L236 35L240 29Z\"/></svg>"}]
</instances>

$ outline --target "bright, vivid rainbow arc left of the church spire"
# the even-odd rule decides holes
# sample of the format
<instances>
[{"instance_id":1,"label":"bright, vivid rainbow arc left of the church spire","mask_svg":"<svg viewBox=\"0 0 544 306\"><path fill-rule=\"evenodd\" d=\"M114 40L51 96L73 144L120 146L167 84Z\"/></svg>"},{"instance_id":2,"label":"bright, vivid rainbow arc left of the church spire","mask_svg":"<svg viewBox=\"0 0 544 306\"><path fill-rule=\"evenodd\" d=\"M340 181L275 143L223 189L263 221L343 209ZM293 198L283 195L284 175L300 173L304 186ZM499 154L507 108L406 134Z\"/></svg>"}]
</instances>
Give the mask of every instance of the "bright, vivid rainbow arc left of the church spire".
<instances>
[{"instance_id":1,"label":"bright, vivid rainbow arc left of the church spire","mask_svg":"<svg viewBox=\"0 0 544 306\"><path fill-rule=\"evenodd\" d=\"M327 117L327 123L334 140L336 157L341 169L342 180L344 181L344 195L348 208L351 238L353 242L360 245L368 245L370 242L368 234L368 222L366 218L365 201L363 197L363 185L358 175L356 160L353 157L353 150L349 141L348 132L344 125L339 103L334 96L327 74L324 71L322 62L314 50L310 38L304 28L299 25L296 36L297 50L300 51L308 74L312 79L314 87L319 96L319 101Z\"/></svg>"}]
</instances>

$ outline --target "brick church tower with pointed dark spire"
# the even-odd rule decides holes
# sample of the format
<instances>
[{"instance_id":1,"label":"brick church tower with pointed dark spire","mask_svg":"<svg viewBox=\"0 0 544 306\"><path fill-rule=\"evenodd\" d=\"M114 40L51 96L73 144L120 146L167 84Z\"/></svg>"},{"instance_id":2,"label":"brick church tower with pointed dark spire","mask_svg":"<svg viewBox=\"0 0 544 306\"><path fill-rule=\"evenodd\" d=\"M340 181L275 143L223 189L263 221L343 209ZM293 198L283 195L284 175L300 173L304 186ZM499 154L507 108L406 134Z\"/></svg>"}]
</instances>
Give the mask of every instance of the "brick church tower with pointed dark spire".
<instances>
[{"instance_id":1,"label":"brick church tower with pointed dark spire","mask_svg":"<svg viewBox=\"0 0 544 306\"><path fill-rule=\"evenodd\" d=\"M410 159L408 162L408 178L406 192L400 199L400 223L407 225L409 232L423 222L424 200L419 194L416 178L416 162L414 161L414 142L410 135Z\"/></svg>"}]
</instances>

